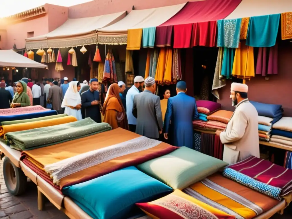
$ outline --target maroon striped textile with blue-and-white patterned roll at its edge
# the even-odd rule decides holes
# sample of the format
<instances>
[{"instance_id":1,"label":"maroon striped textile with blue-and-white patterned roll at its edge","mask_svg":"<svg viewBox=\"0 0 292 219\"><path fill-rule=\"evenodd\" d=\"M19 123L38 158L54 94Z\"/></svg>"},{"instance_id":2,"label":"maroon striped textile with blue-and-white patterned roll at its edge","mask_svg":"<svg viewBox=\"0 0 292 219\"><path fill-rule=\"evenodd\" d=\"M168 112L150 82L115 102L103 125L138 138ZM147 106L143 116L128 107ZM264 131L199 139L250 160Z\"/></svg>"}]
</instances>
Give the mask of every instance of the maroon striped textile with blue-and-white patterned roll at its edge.
<instances>
[{"instance_id":1,"label":"maroon striped textile with blue-and-white patterned roll at its edge","mask_svg":"<svg viewBox=\"0 0 292 219\"><path fill-rule=\"evenodd\" d=\"M223 176L277 200L291 201L292 170L251 156L227 166Z\"/></svg>"}]
</instances>

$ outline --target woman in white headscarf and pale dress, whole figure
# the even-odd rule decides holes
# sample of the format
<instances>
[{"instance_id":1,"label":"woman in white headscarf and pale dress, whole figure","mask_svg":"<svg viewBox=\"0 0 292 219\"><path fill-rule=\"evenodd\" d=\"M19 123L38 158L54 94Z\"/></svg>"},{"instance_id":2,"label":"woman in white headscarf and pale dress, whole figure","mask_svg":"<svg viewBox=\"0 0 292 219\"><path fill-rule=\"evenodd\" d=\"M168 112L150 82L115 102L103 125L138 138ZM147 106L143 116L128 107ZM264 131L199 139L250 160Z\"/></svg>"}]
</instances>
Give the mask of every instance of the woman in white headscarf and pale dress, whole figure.
<instances>
[{"instance_id":1,"label":"woman in white headscarf and pale dress, whole figure","mask_svg":"<svg viewBox=\"0 0 292 219\"><path fill-rule=\"evenodd\" d=\"M78 81L71 81L69 88L65 93L61 107L65 108L65 114L74 116L77 120L82 119L81 115L81 97L79 94L81 86Z\"/></svg>"}]
</instances>

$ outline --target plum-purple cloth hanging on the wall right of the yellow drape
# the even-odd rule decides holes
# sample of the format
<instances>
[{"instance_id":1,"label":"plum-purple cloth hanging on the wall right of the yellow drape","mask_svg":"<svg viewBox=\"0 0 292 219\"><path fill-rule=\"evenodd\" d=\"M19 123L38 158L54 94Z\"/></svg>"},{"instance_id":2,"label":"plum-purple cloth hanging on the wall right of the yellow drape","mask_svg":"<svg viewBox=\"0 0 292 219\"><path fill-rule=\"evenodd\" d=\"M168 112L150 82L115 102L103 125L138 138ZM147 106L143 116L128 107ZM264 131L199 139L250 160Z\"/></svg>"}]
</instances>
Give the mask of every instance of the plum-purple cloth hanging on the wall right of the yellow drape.
<instances>
[{"instance_id":1,"label":"plum-purple cloth hanging on the wall right of the yellow drape","mask_svg":"<svg viewBox=\"0 0 292 219\"><path fill-rule=\"evenodd\" d=\"M269 55L268 55L269 53ZM256 74L278 74L278 45L259 48L256 63Z\"/></svg>"}]
</instances>

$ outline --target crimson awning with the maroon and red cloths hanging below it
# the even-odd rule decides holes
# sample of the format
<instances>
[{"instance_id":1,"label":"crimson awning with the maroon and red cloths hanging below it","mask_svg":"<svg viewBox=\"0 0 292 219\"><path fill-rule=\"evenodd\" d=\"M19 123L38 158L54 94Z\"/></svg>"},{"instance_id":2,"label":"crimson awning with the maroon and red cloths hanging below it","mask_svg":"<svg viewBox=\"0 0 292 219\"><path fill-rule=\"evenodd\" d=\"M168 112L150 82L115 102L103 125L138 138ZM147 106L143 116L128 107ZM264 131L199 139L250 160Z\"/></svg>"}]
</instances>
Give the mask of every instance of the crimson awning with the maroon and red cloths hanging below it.
<instances>
[{"instance_id":1,"label":"crimson awning with the maroon and red cloths hanging below it","mask_svg":"<svg viewBox=\"0 0 292 219\"><path fill-rule=\"evenodd\" d=\"M176 15L156 27L156 46L173 48L215 46L217 20L226 18L241 0L204 0L189 2Z\"/></svg>"}]
</instances>

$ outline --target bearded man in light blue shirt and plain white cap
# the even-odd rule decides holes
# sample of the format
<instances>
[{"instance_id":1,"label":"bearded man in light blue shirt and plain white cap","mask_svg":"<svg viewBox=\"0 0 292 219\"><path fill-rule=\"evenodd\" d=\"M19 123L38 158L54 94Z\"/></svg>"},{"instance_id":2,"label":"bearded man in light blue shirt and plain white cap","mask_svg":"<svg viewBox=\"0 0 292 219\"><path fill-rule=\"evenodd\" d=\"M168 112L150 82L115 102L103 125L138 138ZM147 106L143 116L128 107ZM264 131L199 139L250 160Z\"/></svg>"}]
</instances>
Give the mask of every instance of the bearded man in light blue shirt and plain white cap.
<instances>
[{"instance_id":1,"label":"bearded man in light blue shirt and plain white cap","mask_svg":"<svg viewBox=\"0 0 292 219\"><path fill-rule=\"evenodd\" d=\"M134 96L140 93L139 89L142 90L143 86L144 86L144 78L142 76L136 76L134 78L134 85L128 90L127 95L126 95L127 118L128 118L129 129L131 132L136 131L136 124L137 124L137 119L133 116L133 113L132 113Z\"/></svg>"}]
</instances>

